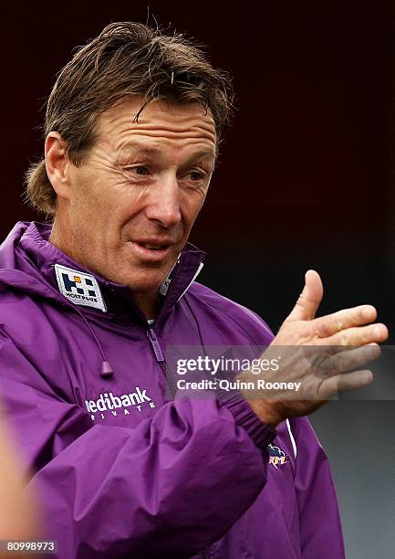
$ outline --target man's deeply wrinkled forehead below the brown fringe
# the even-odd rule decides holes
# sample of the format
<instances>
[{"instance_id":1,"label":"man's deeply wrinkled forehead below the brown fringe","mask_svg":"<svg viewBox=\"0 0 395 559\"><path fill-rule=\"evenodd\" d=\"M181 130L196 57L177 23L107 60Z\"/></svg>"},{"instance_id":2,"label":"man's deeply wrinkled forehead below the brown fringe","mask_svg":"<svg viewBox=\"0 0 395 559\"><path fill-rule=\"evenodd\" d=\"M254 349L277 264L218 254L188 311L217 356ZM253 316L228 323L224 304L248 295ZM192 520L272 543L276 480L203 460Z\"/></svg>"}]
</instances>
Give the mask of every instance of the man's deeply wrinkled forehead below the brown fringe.
<instances>
[{"instance_id":1,"label":"man's deeply wrinkled forehead below the brown fringe","mask_svg":"<svg viewBox=\"0 0 395 559\"><path fill-rule=\"evenodd\" d=\"M215 155L215 124L211 111L200 103L150 102L139 113L143 100L131 97L103 112L98 119L99 143L121 153L133 145L157 150L176 147L182 151L204 150Z\"/></svg>"}]
</instances>

